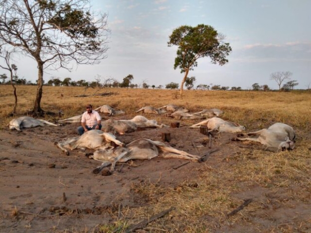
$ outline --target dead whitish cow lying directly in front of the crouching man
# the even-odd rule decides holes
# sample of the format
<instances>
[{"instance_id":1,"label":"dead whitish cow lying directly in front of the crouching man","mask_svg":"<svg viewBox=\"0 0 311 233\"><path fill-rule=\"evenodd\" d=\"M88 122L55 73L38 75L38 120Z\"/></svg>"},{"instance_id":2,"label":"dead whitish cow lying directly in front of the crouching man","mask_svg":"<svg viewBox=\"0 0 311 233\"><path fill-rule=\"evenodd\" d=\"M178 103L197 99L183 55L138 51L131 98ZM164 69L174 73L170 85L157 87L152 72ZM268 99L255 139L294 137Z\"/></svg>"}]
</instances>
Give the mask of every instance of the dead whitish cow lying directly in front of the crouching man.
<instances>
[{"instance_id":1,"label":"dead whitish cow lying directly in front of the crouching man","mask_svg":"<svg viewBox=\"0 0 311 233\"><path fill-rule=\"evenodd\" d=\"M114 148L110 145L110 142L114 142L116 145L124 146L124 143L118 141L116 137L111 133L105 133L101 130L93 129L86 131L81 136L71 137L63 142L59 142L56 145L69 155L70 150L74 149L107 149Z\"/></svg>"}]
</instances>

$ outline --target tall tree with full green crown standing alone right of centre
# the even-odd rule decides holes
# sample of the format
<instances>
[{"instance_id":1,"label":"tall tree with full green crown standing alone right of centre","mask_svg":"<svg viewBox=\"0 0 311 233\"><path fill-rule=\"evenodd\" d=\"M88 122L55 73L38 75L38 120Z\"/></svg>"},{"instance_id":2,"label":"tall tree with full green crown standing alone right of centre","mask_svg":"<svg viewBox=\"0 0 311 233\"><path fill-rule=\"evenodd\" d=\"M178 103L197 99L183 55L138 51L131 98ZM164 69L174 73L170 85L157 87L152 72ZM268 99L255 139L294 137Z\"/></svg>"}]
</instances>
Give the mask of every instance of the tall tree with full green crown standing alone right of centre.
<instances>
[{"instance_id":1,"label":"tall tree with full green crown standing alone right of centre","mask_svg":"<svg viewBox=\"0 0 311 233\"><path fill-rule=\"evenodd\" d=\"M199 58L210 57L213 64L224 65L226 56L232 51L229 43L223 43L224 36L208 25L197 27L181 26L170 36L168 46L178 46L174 69L180 68L185 73L181 83L180 94L190 70L198 66Z\"/></svg>"}]
</instances>

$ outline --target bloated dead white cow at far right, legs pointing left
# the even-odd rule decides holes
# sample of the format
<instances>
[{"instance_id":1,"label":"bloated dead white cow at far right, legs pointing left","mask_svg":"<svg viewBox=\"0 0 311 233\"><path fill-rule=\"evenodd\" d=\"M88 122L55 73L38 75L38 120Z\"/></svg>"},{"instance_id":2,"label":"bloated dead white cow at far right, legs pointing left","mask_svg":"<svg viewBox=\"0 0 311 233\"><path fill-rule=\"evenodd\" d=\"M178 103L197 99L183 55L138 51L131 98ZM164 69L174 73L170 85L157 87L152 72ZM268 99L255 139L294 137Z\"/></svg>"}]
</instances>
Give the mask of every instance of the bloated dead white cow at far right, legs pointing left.
<instances>
[{"instance_id":1,"label":"bloated dead white cow at far right, legs pointing left","mask_svg":"<svg viewBox=\"0 0 311 233\"><path fill-rule=\"evenodd\" d=\"M261 129L255 132L245 133L243 135L256 137L238 138L238 140L260 142L267 148L277 148L282 151L286 149L292 150L295 148L295 131L291 126L284 123L275 123L267 129Z\"/></svg>"}]
</instances>

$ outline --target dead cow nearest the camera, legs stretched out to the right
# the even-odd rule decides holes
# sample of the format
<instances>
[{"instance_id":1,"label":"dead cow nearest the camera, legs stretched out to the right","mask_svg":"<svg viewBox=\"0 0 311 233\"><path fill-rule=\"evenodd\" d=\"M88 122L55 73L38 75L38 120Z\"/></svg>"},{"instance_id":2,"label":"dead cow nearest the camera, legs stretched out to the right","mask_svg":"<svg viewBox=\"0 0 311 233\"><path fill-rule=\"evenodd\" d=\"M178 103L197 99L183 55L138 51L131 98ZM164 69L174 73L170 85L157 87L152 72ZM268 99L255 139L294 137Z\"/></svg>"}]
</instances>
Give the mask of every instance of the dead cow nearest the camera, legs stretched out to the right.
<instances>
[{"instance_id":1,"label":"dead cow nearest the camera, legs stretched out to the right","mask_svg":"<svg viewBox=\"0 0 311 233\"><path fill-rule=\"evenodd\" d=\"M150 139L138 139L132 141L123 148L117 147L113 150L99 149L90 155L89 158L103 162L101 166L93 171L94 173L98 173L110 164L110 172L113 172L116 162L126 162L130 159L152 159L158 156L164 158L189 159L195 162L201 161L201 157L198 155L192 155L185 151L167 146L163 142L152 141Z\"/></svg>"}]
</instances>

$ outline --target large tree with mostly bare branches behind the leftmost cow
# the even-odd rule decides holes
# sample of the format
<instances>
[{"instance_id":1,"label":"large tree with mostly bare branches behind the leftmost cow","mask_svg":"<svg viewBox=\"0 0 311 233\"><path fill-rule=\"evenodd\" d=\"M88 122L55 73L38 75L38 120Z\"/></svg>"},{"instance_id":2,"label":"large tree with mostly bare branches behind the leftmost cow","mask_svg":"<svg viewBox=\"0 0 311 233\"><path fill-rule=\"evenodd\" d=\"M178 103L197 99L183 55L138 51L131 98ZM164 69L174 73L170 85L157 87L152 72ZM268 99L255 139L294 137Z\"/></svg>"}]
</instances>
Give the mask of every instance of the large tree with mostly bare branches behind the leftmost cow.
<instances>
[{"instance_id":1,"label":"large tree with mostly bare branches behind the leftmost cow","mask_svg":"<svg viewBox=\"0 0 311 233\"><path fill-rule=\"evenodd\" d=\"M71 70L72 62L98 64L106 58L107 15L89 11L90 0L0 2L0 47L14 47L36 61L38 88L32 112L41 109L44 69Z\"/></svg>"}]
</instances>

